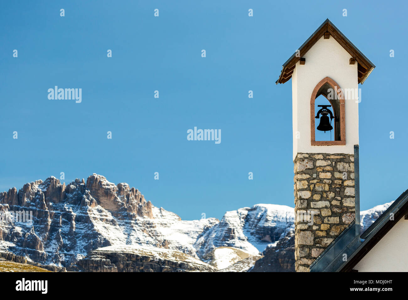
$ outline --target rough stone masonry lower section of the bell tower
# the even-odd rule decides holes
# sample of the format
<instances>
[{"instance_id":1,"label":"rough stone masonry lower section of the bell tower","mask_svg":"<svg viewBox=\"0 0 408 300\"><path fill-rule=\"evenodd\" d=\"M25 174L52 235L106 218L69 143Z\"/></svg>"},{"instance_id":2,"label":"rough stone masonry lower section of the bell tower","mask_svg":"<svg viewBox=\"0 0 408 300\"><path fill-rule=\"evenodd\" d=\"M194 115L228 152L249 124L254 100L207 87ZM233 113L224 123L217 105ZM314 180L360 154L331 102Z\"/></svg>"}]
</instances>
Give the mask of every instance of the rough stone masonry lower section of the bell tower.
<instances>
[{"instance_id":1,"label":"rough stone masonry lower section of the bell tower","mask_svg":"<svg viewBox=\"0 0 408 300\"><path fill-rule=\"evenodd\" d=\"M308 272L355 219L354 155L298 153L294 163L295 270Z\"/></svg>"}]
</instances>

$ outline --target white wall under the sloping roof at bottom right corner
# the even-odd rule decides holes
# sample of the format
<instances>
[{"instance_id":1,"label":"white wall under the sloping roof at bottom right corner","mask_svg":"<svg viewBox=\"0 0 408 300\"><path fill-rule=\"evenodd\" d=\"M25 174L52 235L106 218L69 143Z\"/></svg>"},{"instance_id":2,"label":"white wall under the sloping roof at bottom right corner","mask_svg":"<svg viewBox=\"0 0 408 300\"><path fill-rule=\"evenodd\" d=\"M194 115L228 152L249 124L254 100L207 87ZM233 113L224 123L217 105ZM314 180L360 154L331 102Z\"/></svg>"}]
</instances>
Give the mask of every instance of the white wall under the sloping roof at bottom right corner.
<instances>
[{"instance_id":1,"label":"white wall under the sloping roof at bottom right corner","mask_svg":"<svg viewBox=\"0 0 408 300\"><path fill-rule=\"evenodd\" d=\"M359 272L408 271L408 220L394 227L354 267Z\"/></svg>"}]
</instances>

